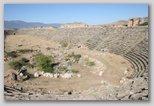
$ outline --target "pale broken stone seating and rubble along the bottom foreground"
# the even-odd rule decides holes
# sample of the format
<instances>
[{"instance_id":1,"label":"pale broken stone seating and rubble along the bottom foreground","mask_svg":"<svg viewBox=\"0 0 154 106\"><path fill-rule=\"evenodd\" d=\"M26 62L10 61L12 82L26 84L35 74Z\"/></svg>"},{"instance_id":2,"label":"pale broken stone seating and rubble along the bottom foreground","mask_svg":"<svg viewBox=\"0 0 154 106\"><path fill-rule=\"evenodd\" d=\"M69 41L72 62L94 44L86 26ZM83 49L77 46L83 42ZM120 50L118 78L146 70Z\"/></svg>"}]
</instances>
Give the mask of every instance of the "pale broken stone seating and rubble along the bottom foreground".
<instances>
[{"instance_id":1,"label":"pale broken stone seating and rubble along the bottom foreground","mask_svg":"<svg viewBox=\"0 0 154 106\"><path fill-rule=\"evenodd\" d=\"M24 91L23 88L4 86L5 100L148 100L148 82L144 77L130 80L123 86L111 86L106 81L101 81L101 86L92 87L85 91L37 93Z\"/></svg>"}]
</instances>

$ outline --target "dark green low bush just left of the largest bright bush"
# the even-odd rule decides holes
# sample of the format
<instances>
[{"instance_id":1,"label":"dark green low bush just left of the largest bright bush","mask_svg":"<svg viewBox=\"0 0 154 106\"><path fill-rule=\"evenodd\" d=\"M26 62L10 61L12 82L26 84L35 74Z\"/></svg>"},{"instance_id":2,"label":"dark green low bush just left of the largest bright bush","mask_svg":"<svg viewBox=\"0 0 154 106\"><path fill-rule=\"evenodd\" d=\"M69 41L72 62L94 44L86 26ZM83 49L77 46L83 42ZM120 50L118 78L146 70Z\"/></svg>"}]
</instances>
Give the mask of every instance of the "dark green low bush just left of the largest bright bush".
<instances>
[{"instance_id":1,"label":"dark green low bush just left of the largest bright bush","mask_svg":"<svg viewBox=\"0 0 154 106\"><path fill-rule=\"evenodd\" d=\"M26 58L22 58L18 61L12 61L9 63L9 65L15 70L20 69L22 66L30 66L29 60Z\"/></svg>"}]
</instances>

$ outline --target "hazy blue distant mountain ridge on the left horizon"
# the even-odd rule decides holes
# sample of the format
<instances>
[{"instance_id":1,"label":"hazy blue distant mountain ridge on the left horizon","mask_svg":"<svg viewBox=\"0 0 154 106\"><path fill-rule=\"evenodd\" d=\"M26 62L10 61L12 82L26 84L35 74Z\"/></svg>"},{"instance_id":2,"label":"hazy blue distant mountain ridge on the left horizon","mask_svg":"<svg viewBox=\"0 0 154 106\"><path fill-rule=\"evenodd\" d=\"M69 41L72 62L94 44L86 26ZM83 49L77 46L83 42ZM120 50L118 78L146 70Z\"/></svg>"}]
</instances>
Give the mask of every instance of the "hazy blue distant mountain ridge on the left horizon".
<instances>
[{"instance_id":1,"label":"hazy blue distant mountain ridge on the left horizon","mask_svg":"<svg viewBox=\"0 0 154 106\"><path fill-rule=\"evenodd\" d=\"M20 20L4 21L4 29L20 29L20 28L31 28L31 27L60 27L60 23L44 24L40 22L24 22Z\"/></svg>"}]
</instances>

